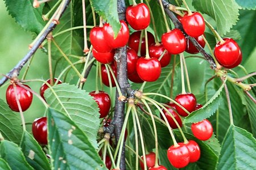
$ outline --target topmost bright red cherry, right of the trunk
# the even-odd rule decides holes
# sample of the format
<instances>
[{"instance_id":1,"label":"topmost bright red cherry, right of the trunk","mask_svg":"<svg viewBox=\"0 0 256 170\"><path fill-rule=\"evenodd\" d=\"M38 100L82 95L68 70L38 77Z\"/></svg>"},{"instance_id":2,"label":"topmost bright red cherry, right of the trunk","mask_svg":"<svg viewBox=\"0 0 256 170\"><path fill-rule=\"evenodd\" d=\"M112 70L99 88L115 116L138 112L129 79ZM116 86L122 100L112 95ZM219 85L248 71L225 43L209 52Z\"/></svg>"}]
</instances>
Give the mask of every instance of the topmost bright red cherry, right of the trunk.
<instances>
[{"instance_id":1,"label":"topmost bright red cherry, right of the trunk","mask_svg":"<svg viewBox=\"0 0 256 170\"><path fill-rule=\"evenodd\" d=\"M145 3L130 5L126 8L126 20L135 30L141 30L150 24L150 11Z\"/></svg>"}]
</instances>

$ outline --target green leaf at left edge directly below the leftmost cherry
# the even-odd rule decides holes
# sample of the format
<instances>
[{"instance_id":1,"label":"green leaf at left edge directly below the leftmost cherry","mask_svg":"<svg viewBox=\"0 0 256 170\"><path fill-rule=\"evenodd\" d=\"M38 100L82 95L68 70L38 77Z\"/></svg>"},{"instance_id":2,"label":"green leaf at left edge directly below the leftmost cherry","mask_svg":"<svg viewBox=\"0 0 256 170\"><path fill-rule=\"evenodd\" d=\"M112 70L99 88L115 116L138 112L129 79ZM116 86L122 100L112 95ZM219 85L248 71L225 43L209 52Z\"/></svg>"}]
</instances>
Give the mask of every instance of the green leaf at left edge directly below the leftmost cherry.
<instances>
[{"instance_id":1,"label":"green leaf at left edge directly below the leftmost cherry","mask_svg":"<svg viewBox=\"0 0 256 170\"><path fill-rule=\"evenodd\" d=\"M22 137L19 113L12 112L2 99L0 99L0 120L0 133L5 139L18 144Z\"/></svg>"}]
</instances>

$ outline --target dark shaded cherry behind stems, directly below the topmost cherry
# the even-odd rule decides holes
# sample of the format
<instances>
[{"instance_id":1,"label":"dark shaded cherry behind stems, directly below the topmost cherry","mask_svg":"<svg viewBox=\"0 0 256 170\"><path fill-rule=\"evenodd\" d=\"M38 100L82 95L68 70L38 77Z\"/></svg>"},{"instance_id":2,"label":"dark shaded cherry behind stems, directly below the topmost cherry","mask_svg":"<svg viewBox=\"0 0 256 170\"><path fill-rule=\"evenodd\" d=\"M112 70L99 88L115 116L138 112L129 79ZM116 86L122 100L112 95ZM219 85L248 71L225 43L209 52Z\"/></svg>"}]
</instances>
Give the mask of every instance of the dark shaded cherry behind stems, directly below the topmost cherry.
<instances>
[{"instance_id":1,"label":"dark shaded cherry behind stems, directly below the topmost cherry","mask_svg":"<svg viewBox=\"0 0 256 170\"><path fill-rule=\"evenodd\" d=\"M141 37L141 31L136 31L134 33L131 34L129 41L128 41L128 45L130 46L130 48L134 49L136 53L138 53L139 50L139 39ZM155 37L154 35L152 35L152 33L147 31L147 44L148 46L150 46L152 43L155 42ZM146 40L145 37L143 35L142 37L142 41L141 41L141 56L145 56L146 55Z\"/></svg>"}]
</instances>

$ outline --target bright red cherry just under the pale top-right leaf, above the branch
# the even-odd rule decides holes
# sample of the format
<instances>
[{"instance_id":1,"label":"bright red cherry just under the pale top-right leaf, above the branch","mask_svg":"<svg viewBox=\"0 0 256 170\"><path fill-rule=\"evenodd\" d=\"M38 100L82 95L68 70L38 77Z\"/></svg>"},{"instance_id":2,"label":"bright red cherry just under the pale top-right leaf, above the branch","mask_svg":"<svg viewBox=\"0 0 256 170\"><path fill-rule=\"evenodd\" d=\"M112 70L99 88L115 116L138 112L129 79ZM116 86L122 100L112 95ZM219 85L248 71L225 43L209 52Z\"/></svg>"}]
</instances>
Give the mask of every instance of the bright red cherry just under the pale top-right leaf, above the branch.
<instances>
[{"instance_id":1,"label":"bright red cherry just under the pale top-right leaf, above the branch","mask_svg":"<svg viewBox=\"0 0 256 170\"><path fill-rule=\"evenodd\" d=\"M184 31L191 37L199 37L205 31L204 18L199 12L185 14L181 20Z\"/></svg>"}]
</instances>

